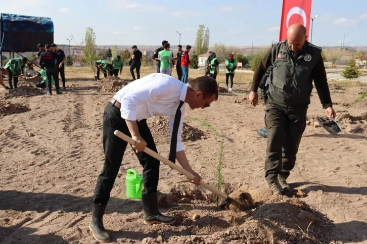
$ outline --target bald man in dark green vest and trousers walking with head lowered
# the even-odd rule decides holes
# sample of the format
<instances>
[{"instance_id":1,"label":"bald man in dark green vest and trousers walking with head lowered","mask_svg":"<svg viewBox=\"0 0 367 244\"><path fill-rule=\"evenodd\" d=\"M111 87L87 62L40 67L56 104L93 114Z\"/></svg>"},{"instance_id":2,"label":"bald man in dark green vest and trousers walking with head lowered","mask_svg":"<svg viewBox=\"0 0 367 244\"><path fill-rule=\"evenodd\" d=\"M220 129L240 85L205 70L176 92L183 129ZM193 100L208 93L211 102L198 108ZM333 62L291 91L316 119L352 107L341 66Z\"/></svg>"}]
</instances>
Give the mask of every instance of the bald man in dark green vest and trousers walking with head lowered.
<instances>
[{"instance_id":1,"label":"bald man in dark green vest and trousers walking with head lowered","mask_svg":"<svg viewBox=\"0 0 367 244\"><path fill-rule=\"evenodd\" d=\"M335 118L321 48L306 41L307 31L293 24L287 40L274 44L256 68L249 100L257 104L257 89L266 69L272 74L266 92L267 149L265 178L273 194L291 190L286 179L293 169L306 127L312 80L327 117Z\"/></svg>"}]
</instances>

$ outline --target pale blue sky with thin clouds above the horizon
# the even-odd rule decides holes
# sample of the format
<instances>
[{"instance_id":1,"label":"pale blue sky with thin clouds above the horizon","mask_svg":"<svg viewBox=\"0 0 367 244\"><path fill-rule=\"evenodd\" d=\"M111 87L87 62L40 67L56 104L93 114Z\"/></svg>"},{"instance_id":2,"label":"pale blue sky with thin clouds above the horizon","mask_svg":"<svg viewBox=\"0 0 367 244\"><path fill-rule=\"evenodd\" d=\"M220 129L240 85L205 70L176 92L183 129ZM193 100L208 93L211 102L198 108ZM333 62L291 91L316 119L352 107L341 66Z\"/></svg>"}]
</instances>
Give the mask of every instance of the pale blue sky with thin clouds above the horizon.
<instances>
[{"instance_id":1,"label":"pale blue sky with thin clouds above the horizon","mask_svg":"<svg viewBox=\"0 0 367 244\"><path fill-rule=\"evenodd\" d=\"M15 4L15 3L16 4ZM224 4L226 3L226 4ZM0 12L50 17L57 44L80 44L93 28L97 45L195 44L200 24L210 30L210 45L269 45L279 40L282 0L0 0ZM312 43L367 46L364 0L313 0ZM139 46L138 46L139 47Z\"/></svg>"}]
</instances>

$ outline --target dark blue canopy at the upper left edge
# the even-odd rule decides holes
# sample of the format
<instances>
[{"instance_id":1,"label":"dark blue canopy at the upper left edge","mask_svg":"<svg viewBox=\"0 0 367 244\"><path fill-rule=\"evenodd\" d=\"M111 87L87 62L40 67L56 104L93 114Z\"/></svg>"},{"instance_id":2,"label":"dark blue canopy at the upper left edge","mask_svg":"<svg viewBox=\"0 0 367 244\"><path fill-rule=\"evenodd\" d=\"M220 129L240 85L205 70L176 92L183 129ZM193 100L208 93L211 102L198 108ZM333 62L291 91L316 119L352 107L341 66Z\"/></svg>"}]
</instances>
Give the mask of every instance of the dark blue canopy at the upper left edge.
<instances>
[{"instance_id":1,"label":"dark blue canopy at the upper left edge","mask_svg":"<svg viewBox=\"0 0 367 244\"><path fill-rule=\"evenodd\" d=\"M0 57L3 52L36 52L38 43L54 43L54 23L51 18L1 14Z\"/></svg>"}]
</instances>

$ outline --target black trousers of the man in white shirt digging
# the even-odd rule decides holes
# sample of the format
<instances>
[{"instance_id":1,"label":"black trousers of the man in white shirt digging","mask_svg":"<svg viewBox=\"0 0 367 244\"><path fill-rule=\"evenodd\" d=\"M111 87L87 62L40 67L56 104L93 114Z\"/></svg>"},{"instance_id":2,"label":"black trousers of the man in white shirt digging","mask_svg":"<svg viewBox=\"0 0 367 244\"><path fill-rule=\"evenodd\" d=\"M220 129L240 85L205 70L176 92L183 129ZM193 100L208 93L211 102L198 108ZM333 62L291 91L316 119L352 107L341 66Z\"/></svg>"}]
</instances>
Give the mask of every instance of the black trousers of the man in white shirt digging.
<instances>
[{"instance_id":1,"label":"black trousers of the man in white shirt digging","mask_svg":"<svg viewBox=\"0 0 367 244\"><path fill-rule=\"evenodd\" d=\"M137 122L139 133L147 142L147 147L158 152L147 120ZM114 135L115 130L131 136L126 122L121 118L120 109L111 103L106 106L103 114L103 151L105 153L105 164L101 174L98 176L93 203L106 205L110 199L110 192L115 183L116 176L121 166L122 158L126 150L127 142ZM157 191L159 180L159 161L144 152L136 154L137 159L143 166L143 192Z\"/></svg>"}]
</instances>

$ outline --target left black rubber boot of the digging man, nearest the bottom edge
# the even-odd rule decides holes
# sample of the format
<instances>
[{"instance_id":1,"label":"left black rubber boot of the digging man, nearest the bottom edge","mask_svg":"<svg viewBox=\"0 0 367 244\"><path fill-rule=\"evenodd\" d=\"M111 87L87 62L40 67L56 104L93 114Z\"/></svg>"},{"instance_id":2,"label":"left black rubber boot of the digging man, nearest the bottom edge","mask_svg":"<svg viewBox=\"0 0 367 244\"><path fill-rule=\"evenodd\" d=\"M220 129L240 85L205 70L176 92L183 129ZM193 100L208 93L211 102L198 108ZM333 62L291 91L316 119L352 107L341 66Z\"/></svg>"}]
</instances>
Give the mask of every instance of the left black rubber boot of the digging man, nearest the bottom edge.
<instances>
[{"instance_id":1,"label":"left black rubber boot of the digging man, nearest the bottom edge","mask_svg":"<svg viewBox=\"0 0 367 244\"><path fill-rule=\"evenodd\" d=\"M105 213L106 205L93 205L92 220L89 224L89 230L93 233L93 237L100 242L110 242L110 234L103 226L102 218Z\"/></svg>"}]
</instances>

